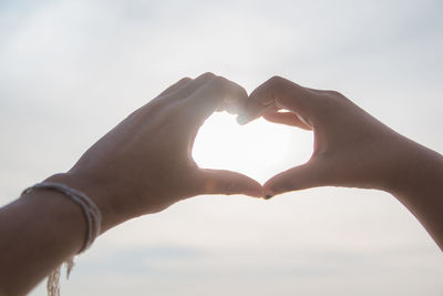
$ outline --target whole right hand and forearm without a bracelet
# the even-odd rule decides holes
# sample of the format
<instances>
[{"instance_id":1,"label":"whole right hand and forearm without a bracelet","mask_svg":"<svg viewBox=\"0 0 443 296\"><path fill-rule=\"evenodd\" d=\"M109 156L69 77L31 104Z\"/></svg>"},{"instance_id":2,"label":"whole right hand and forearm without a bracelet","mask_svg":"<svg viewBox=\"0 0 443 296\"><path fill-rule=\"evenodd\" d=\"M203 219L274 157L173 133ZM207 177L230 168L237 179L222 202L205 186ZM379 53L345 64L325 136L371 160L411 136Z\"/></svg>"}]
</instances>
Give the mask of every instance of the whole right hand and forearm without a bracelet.
<instances>
[{"instance_id":1,"label":"whole right hand and forearm without a bracelet","mask_svg":"<svg viewBox=\"0 0 443 296\"><path fill-rule=\"evenodd\" d=\"M302 165L264 184L267 198L318 186L391 193L443 249L443 156L392 131L336 91L300 86L275 76L250 95L238 121L264 116L315 134Z\"/></svg>"}]
</instances>

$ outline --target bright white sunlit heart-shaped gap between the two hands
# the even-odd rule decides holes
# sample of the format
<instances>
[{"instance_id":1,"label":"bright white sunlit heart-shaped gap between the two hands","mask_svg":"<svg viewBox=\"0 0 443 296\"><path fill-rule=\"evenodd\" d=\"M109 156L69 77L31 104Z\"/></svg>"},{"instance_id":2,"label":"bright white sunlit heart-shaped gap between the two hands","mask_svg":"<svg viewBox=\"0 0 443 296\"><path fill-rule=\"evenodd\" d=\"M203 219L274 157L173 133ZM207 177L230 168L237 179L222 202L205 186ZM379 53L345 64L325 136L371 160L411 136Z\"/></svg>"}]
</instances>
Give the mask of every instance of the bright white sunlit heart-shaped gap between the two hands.
<instances>
[{"instance_id":1,"label":"bright white sunlit heart-shaped gap between the two hands","mask_svg":"<svg viewBox=\"0 0 443 296\"><path fill-rule=\"evenodd\" d=\"M213 114L202 126L193 150L200 167L231 170L264 183L302 164L312 154L312 133L264 119L239 125L226 112Z\"/></svg>"}]
</instances>

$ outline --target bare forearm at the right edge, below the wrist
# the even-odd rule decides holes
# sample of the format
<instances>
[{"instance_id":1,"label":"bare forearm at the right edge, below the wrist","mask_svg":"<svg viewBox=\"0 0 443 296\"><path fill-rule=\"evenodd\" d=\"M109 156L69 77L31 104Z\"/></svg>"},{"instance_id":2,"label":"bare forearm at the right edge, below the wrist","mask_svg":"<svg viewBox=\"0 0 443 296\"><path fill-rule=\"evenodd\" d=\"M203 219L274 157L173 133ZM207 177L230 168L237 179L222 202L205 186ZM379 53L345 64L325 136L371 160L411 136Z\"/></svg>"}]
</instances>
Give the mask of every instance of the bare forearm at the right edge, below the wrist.
<instances>
[{"instance_id":1,"label":"bare forearm at the right edge, below the wrist","mask_svg":"<svg viewBox=\"0 0 443 296\"><path fill-rule=\"evenodd\" d=\"M402 163L388 190L420 221L443 251L443 156L403 139Z\"/></svg>"}]
</instances>

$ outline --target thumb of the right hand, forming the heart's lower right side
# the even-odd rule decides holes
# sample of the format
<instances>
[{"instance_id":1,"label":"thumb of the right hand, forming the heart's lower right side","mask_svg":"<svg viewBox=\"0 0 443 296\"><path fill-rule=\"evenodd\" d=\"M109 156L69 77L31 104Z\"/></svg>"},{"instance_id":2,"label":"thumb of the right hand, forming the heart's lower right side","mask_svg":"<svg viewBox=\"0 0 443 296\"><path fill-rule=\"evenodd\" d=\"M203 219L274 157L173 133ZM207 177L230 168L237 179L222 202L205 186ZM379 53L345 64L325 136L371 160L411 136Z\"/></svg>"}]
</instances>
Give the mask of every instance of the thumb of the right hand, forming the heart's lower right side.
<instances>
[{"instance_id":1,"label":"thumb of the right hand, forming the heart's lower right side","mask_svg":"<svg viewBox=\"0 0 443 296\"><path fill-rule=\"evenodd\" d=\"M269 178L264 185L265 198L271 198L275 195L285 192L306 190L321 186L324 184L324 170L316 163L295 166Z\"/></svg>"}]
</instances>

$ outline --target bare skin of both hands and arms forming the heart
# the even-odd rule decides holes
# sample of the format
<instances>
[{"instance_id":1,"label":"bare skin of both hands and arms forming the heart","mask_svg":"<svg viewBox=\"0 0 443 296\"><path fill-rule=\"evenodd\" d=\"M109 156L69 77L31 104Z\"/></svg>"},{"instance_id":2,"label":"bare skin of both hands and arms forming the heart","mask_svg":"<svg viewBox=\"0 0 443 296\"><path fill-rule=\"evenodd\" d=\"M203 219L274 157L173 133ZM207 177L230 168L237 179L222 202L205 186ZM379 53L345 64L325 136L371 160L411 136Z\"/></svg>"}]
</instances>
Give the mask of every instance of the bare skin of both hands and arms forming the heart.
<instances>
[{"instance_id":1,"label":"bare skin of both hands and arms forming the heart","mask_svg":"<svg viewBox=\"0 0 443 296\"><path fill-rule=\"evenodd\" d=\"M312 130L309 162L264 186L192 159L199 126L215 111ZM285 111L281 113L281 111ZM274 196L316 186L383 190L423 224L443 249L443 157L395 133L338 92L272 78L249 98L220 76L183 79L116 125L68 172L48 178L86 193L102 232L200 194ZM0 208L0 295L23 295L81 249L81 208L53 191L33 191ZM2 290L2 292L1 292Z\"/></svg>"}]
</instances>

